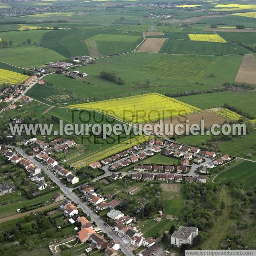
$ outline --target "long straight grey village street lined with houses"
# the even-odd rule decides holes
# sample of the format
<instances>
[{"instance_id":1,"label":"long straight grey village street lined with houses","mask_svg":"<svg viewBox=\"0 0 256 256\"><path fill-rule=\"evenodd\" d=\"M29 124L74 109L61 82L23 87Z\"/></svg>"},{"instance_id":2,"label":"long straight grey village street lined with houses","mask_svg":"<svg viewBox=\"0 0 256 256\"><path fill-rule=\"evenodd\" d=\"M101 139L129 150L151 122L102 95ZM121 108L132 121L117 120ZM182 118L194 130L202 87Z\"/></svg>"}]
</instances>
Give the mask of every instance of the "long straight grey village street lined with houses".
<instances>
[{"instance_id":1,"label":"long straight grey village street lined with houses","mask_svg":"<svg viewBox=\"0 0 256 256\"><path fill-rule=\"evenodd\" d=\"M58 177L56 177L49 169L45 168L45 166L43 164L41 164L40 162L38 162L37 160L35 160L32 156L26 154L25 151L23 151L20 148L15 147L15 150L17 151L17 153L19 153L20 155L22 155L23 157L26 157L28 160L34 162L34 164L36 166L41 167L41 169L43 169L47 175L50 177L50 179L55 182L61 189L61 191L66 194L71 201L74 201L76 204L78 204L78 206L87 214L90 216L92 221L95 221L97 226L104 231L105 233L108 234L109 237L111 237L111 239L115 240L115 241L119 241L120 242L120 247L122 252L125 254L125 256L134 256L134 254L131 252L131 250L129 249L129 247L122 241L122 239L119 238L118 235L116 235L115 232L113 232L113 230L111 229L111 227L105 226L104 225L104 221L98 216L96 215L95 212L93 212L89 207L87 207L86 204L84 204L83 201L81 201L81 199L72 192L72 189L67 188L67 186L61 182L61 180L58 179Z\"/></svg>"}]
</instances>

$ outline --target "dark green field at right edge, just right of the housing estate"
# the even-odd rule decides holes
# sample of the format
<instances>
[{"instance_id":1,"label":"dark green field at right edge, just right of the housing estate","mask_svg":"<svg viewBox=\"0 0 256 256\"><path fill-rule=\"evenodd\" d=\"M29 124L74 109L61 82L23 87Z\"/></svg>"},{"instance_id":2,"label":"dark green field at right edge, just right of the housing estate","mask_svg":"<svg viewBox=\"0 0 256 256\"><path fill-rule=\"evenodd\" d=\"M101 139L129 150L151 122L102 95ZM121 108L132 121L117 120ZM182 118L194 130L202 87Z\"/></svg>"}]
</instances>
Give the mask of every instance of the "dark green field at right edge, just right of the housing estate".
<instances>
[{"instance_id":1,"label":"dark green field at right edge, just right of the housing estate","mask_svg":"<svg viewBox=\"0 0 256 256\"><path fill-rule=\"evenodd\" d=\"M241 185L244 190L256 183L256 163L244 161L233 168L221 172L215 182L227 183L230 180L235 180Z\"/></svg>"}]
</instances>

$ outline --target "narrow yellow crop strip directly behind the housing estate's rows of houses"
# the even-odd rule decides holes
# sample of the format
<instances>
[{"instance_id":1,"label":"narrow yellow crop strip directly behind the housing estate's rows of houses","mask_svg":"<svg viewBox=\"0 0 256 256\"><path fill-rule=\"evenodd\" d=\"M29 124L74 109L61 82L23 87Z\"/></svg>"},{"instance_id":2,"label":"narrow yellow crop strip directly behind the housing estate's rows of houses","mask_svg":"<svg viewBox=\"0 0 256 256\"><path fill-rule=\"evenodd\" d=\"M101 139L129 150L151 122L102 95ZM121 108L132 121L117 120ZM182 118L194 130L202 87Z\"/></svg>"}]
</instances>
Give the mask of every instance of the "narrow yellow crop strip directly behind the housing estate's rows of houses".
<instances>
[{"instance_id":1,"label":"narrow yellow crop strip directly behind the housing estate's rows of houses","mask_svg":"<svg viewBox=\"0 0 256 256\"><path fill-rule=\"evenodd\" d=\"M83 159L78 160L78 161L72 163L71 165L76 168L88 166L89 164L91 164L93 162L103 160L107 157L112 156L113 154L117 154L119 152L122 152L128 148L131 148L135 145L141 144L141 143L143 143L147 140L153 139L153 138L154 138L154 135L149 135L149 136L140 135L140 136L134 137L130 140L125 140L123 142L120 142L119 144L113 145L110 148L106 148L106 149L96 152L94 154L87 155Z\"/></svg>"}]
</instances>

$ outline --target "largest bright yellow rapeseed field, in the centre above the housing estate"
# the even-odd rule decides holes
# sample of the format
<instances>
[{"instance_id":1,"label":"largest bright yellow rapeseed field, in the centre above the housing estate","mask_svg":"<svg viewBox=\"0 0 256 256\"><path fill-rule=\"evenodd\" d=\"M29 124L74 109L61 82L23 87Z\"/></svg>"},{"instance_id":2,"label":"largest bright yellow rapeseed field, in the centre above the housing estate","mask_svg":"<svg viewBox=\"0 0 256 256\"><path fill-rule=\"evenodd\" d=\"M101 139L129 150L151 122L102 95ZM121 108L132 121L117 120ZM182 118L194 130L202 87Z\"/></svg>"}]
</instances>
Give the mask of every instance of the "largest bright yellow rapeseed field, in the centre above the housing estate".
<instances>
[{"instance_id":1,"label":"largest bright yellow rapeseed field, in the centre above the housing estate","mask_svg":"<svg viewBox=\"0 0 256 256\"><path fill-rule=\"evenodd\" d=\"M95 110L129 123L154 122L200 111L159 93L70 105L67 108Z\"/></svg>"}]
</instances>

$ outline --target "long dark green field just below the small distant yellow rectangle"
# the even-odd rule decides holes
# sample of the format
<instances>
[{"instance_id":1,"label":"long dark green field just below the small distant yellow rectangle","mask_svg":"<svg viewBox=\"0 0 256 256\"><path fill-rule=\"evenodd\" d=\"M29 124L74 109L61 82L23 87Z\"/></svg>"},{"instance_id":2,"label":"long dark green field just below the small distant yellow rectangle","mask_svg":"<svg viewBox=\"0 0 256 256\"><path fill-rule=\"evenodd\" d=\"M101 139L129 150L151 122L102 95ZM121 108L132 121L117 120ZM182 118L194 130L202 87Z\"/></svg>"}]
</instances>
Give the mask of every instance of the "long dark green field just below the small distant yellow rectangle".
<instances>
[{"instance_id":1,"label":"long dark green field just below the small distant yellow rectangle","mask_svg":"<svg viewBox=\"0 0 256 256\"><path fill-rule=\"evenodd\" d=\"M159 52L172 54L227 55L249 53L250 51L239 45L233 44L186 40L166 40Z\"/></svg>"}]
</instances>

